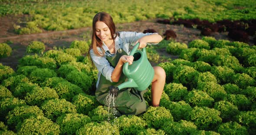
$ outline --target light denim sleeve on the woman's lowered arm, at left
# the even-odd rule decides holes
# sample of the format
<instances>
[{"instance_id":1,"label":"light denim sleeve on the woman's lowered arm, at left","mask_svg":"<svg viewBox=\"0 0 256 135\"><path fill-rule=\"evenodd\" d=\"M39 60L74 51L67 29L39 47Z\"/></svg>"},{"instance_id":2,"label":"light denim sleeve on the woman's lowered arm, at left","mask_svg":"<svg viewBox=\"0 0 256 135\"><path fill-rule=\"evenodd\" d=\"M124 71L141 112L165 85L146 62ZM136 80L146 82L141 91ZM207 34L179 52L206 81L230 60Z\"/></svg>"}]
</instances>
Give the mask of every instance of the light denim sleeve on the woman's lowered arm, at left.
<instances>
[{"instance_id":1,"label":"light denim sleeve on the woman's lowered arm, at left","mask_svg":"<svg viewBox=\"0 0 256 135\"><path fill-rule=\"evenodd\" d=\"M97 67L98 71L102 73L104 77L106 77L107 80L112 81L111 76L112 72L114 70L114 67L110 65L108 60L103 56L95 55L93 50L90 50L90 56L92 58L93 63Z\"/></svg>"}]
</instances>

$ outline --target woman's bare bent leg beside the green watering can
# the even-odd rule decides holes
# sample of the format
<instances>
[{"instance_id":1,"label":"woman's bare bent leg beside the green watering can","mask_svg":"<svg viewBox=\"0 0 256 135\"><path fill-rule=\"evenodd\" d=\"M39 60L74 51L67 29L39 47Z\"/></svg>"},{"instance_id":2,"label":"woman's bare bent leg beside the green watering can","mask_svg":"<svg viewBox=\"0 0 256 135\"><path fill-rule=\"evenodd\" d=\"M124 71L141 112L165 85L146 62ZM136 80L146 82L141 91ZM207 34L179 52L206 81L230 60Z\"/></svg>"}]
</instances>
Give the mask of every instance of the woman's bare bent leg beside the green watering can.
<instances>
[{"instance_id":1,"label":"woman's bare bent leg beside the green watering can","mask_svg":"<svg viewBox=\"0 0 256 135\"><path fill-rule=\"evenodd\" d=\"M164 90L166 74L162 67L153 67L153 68L154 68L154 78L152 80L152 86L151 86L152 106L159 106L161 95Z\"/></svg>"}]
</instances>

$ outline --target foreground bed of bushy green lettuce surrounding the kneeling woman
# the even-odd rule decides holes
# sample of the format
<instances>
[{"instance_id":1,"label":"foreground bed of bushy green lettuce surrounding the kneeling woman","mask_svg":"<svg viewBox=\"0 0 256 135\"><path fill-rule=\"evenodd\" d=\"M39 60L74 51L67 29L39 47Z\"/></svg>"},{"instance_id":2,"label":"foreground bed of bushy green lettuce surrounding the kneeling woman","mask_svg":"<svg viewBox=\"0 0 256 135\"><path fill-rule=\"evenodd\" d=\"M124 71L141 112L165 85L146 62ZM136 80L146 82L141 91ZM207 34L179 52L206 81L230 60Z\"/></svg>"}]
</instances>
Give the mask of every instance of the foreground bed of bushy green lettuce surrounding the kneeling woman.
<instances>
[{"instance_id":1,"label":"foreground bed of bushy green lettuce surrounding the kneeling woman","mask_svg":"<svg viewBox=\"0 0 256 135\"><path fill-rule=\"evenodd\" d=\"M8 46L8 45L7 45ZM167 60L160 107L140 116L112 116L95 99L97 70L84 57L89 42L44 51L31 42L17 70L0 65L0 133L61 135L253 134L256 129L256 48L204 37L188 45L163 41L180 58ZM3 50L3 49L1 49ZM43 52L43 53L42 53ZM6 55L5 55L6 56ZM149 59L154 55L149 55Z\"/></svg>"}]
</instances>

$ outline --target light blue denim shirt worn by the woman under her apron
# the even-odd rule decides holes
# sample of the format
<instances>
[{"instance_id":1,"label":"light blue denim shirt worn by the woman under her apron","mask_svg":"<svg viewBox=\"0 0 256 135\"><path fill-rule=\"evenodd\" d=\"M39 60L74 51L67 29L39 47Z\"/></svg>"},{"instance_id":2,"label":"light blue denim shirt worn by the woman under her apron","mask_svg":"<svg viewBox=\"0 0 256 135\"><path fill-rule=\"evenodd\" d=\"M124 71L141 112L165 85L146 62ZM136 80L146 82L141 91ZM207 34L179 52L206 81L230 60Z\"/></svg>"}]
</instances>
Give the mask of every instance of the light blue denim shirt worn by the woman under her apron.
<instances>
[{"instance_id":1,"label":"light blue denim shirt worn by the woman under her apron","mask_svg":"<svg viewBox=\"0 0 256 135\"><path fill-rule=\"evenodd\" d=\"M122 48L128 55L130 54L130 45L134 45L138 39L142 38L145 35L158 34L158 33L142 33L142 32L119 32L119 35L115 38L115 54L119 48ZM147 43L147 45L157 45L158 43ZM93 63L98 69L98 81L96 87L98 87L98 82L100 80L101 74L106 77L107 80L112 81L111 76L114 70L114 67L110 65L108 60L106 59L106 55L112 55L109 52L107 45L103 42L102 48L105 51L104 56L95 55L93 50L90 50L90 56L92 58ZM99 52L103 52L101 48L97 48Z\"/></svg>"}]
</instances>

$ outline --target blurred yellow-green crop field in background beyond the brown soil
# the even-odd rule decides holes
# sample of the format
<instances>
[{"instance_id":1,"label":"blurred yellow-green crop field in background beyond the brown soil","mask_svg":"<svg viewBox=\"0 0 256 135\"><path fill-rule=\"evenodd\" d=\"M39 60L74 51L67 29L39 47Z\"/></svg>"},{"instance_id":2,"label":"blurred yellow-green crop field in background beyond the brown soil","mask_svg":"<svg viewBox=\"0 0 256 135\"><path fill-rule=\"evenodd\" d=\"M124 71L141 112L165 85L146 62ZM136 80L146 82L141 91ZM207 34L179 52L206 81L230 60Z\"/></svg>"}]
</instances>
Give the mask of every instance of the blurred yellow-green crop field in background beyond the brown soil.
<instances>
[{"instance_id":1,"label":"blurred yellow-green crop field in background beyond the brown soil","mask_svg":"<svg viewBox=\"0 0 256 135\"><path fill-rule=\"evenodd\" d=\"M165 18L209 20L248 20L256 18L255 0L16 0L0 2L0 15L28 14L30 17L14 24L19 34L40 33L42 29L60 31L92 26L92 18L100 11L112 15L115 23ZM250 3L250 4L248 4Z\"/></svg>"}]
</instances>

